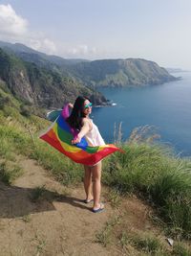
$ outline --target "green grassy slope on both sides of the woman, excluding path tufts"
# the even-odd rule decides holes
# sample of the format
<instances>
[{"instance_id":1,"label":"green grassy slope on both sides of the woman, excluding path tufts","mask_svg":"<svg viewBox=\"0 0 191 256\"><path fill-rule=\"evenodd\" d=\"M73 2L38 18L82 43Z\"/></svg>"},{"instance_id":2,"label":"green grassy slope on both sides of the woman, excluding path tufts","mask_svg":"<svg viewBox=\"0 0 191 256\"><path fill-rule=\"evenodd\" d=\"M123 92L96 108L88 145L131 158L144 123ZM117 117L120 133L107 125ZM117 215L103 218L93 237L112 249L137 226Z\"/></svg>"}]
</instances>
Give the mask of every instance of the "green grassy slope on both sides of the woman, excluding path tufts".
<instances>
[{"instance_id":1,"label":"green grassy slope on both sides of the woman, excluding path tufts","mask_svg":"<svg viewBox=\"0 0 191 256\"><path fill-rule=\"evenodd\" d=\"M9 100L8 100L9 98ZM7 100L6 100L7 99ZM7 183L22 174L14 164L15 152L36 159L63 184L82 179L82 168L38 139L49 122L21 115L20 103L0 89L0 172ZM5 104L6 103L6 104ZM175 157L167 149L134 134L103 162L103 183L120 195L136 194L155 209L163 228L181 240L191 236L191 161ZM125 235L123 235L125 236ZM125 239L125 237L123 238ZM184 254L182 254L184 255ZM185 254L189 255L189 254Z\"/></svg>"}]
</instances>

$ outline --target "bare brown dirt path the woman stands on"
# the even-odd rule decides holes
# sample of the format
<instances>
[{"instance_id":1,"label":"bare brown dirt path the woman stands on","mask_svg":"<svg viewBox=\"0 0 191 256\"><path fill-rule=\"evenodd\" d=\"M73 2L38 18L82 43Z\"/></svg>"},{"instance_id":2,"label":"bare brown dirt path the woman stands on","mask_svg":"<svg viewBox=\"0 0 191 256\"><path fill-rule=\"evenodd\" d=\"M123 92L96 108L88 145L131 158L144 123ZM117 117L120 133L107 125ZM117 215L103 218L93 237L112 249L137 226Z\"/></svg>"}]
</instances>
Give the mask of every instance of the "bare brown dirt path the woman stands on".
<instances>
[{"instance_id":1,"label":"bare brown dirt path the woman stands on","mask_svg":"<svg viewBox=\"0 0 191 256\"><path fill-rule=\"evenodd\" d=\"M106 209L93 214L92 203L82 202L82 184L66 187L21 155L16 163L22 175L9 186L0 181L0 255L161 256L160 244L171 250L150 218L152 209L138 198L114 202L115 193L103 187Z\"/></svg>"}]
</instances>

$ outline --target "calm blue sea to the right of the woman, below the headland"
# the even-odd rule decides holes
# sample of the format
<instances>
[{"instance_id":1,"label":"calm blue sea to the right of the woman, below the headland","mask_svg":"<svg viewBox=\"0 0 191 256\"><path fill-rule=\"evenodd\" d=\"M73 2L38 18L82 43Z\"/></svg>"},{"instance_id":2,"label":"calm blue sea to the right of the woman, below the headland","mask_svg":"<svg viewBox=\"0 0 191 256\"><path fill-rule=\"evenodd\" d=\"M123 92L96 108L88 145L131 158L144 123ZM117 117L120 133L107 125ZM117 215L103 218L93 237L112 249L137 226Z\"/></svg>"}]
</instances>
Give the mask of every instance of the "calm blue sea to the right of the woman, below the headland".
<instances>
[{"instance_id":1,"label":"calm blue sea to the right of the woman, below the headland","mask_svg":"<svg viewBox=\"0 0 191 256\"><path fill-rule=\"evenodd\" d=\"M123 140L131 131L155 126L160 141L181 156L191 156L191 72L173 74L182 79L160 85L101 88L117 105L93 108L93 118L106 142L114 141L114 127L122 122Z\"/></svg>"}]
</instances>

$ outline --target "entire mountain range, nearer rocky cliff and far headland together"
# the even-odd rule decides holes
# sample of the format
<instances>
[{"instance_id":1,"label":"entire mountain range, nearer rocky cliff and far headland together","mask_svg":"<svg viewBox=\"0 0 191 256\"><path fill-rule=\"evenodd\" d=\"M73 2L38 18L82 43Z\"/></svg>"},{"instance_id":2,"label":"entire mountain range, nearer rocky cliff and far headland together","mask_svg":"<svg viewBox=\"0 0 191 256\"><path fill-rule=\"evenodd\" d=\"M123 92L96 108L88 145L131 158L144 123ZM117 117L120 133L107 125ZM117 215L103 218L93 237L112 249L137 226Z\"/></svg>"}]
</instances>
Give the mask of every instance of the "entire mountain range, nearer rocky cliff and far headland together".
<instances>
[{"instance_id":1,"label":"entire mountain range, nearer rocky cliff and far headland together","mask_svg":"<svg viewBox=\"0 0 191 256\"><path fill-rule=\"evenodd\" d=\"M79 94L90 97L96 105L107 105L96 87L177 80L156 62L141 58L67 59L1 41L0 49L0 79L13 94L34 105L60 107Z\"/></svg>"}]
</instances>

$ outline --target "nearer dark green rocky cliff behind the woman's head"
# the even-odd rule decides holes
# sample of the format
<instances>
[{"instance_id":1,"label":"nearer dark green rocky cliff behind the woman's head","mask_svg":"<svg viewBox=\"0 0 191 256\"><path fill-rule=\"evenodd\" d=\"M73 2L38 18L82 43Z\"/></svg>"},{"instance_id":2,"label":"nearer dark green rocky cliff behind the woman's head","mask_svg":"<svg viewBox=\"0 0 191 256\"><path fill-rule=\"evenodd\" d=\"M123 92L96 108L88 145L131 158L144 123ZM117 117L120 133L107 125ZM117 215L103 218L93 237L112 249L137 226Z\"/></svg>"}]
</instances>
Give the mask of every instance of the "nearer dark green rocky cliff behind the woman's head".
<instances>
[{"instance_id":1,"label":"nearer dark green rocky cliff behind the woman's head","mask_svg":"<svg viewBox=\"0 0 191 256\"><path fill-rule=\"evenodd\" d=\"M61 107L74 102L78 95L86 95L96 105L106 104L106 99L93 89L74 80L67 72L40 67L24 61L0 48L0 80L17 99L40 107Z\"/></svg>"}]
</instances>

